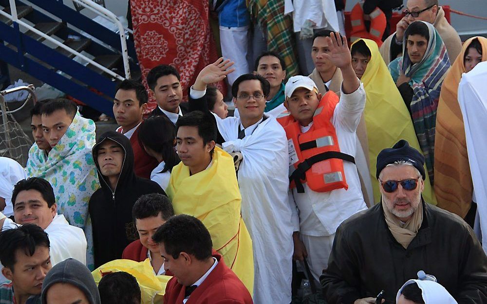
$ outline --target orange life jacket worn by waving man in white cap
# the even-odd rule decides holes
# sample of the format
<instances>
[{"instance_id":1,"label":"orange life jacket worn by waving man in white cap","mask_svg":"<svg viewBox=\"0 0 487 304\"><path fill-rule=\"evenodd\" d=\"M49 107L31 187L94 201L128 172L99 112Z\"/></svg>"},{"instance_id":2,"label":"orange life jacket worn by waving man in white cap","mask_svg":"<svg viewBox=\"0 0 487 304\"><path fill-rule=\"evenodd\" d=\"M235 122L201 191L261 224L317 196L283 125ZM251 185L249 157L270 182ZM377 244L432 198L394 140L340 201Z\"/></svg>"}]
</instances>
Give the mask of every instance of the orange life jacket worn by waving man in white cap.
<instances>
[{"instance_id":1,"label":"orange life jacket worn by waving man in white cap","mask_svg":"<svg viewBox=\"0 0 487 304\"><path fill-rule=\"evenodd\" d=\"M278 119L286 131L289 146L290 188L304 192L302 183L316 192L348 189L343 161L355 163L353 156L340 152L337 132L332 124L338 96L328 91L319 101L313 125L302 133L300 123L293 116ZM293 172L292 169L294 169Z\"/></svg>"}]
</instances>

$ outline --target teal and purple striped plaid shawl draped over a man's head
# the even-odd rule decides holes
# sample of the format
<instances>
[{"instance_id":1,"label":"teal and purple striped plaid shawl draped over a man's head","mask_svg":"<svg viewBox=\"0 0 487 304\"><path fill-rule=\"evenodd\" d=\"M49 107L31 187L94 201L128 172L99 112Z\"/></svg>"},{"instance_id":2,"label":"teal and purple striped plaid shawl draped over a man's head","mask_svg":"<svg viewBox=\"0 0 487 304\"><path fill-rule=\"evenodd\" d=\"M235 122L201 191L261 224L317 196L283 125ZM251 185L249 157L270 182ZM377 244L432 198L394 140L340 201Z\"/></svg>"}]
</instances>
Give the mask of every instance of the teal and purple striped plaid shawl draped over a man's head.
<instances>
[{"instance_id":1,"label":"teal and purple striped plaid shawl draped over a man's head","mask_svg":"<svg viewBox=\"0 0 487 304\"><path fill-rule=\"evenodd\" d=\"M450 68L450 59L445 44L435 28L427 22L430 39L423 59L412 64L407 50L407 33L403 41L403 57L396 58L389 65L394 81L399 77L399 69L408 77L413 90L411 102L412 121L419 146L426 159L426 168L433 184L434 135L436 125L436 108L440 89L446 72ZM414 23L415 23L414 22Z\"/></svg>"}]
</instances>

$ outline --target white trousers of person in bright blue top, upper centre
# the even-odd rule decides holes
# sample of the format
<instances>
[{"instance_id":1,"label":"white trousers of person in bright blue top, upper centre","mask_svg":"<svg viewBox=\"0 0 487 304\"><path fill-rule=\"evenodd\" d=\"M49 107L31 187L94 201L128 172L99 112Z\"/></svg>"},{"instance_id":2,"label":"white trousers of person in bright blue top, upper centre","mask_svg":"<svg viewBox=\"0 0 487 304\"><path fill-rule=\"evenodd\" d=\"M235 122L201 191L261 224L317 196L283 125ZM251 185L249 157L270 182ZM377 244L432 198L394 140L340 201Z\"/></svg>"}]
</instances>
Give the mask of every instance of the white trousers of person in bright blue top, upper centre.
<instances>
[{"instance_id":1,"label":"white trousers of person in bright blue top, upper centre","mask_svg":"<svg viewBox=\"0 0 487 304\"><path fill-rule=\"evenodd\" d=\"M227 79L230 86L240 75L250 72L247 61L248 50L248 26L226 27L220 26L220 44L222 56L235 62L232 68L234 72L228 74Z\"/></svg>"}]
</instances>

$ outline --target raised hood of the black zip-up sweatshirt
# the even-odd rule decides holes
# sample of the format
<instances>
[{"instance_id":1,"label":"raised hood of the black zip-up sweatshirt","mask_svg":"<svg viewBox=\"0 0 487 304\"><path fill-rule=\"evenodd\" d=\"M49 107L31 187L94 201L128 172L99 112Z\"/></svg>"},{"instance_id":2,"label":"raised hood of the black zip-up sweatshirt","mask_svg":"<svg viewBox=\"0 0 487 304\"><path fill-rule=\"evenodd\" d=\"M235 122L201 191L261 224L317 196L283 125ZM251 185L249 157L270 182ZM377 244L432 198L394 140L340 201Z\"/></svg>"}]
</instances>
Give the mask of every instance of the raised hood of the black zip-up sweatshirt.
<instances>
[{"instance_id":1,"label":"raised hood of the black zip-up sweatshirt","mask_svg":"<svg viewBox=\"0 0 487 304\"><path fill-rule=\"evenodd\" d=\"M133 171L133 149L127 136L116 131L107 131L103 133L101 137L96 140L96 144L93 146L92 155L96 165L96 170L98 172L98 179L100 179L100 185L103 189L110 190L110 192L112 192L108 179L101 174L97 158L100 144L107 140L112 140L113 142L119 144L125 152L124 161L122 163L122 171L120 172L120 177L118 178L117 188L135 178L135 173Z\"/></svg>"}]
</instances>

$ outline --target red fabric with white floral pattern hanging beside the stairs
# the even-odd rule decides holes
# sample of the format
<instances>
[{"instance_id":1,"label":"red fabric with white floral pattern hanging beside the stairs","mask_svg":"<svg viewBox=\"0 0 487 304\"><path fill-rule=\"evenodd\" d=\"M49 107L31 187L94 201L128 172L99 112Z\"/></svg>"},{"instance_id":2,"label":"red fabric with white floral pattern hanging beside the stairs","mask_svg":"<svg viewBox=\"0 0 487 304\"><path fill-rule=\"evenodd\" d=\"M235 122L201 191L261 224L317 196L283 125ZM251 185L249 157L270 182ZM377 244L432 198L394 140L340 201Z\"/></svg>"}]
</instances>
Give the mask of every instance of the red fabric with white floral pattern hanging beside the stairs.
<instances>
[{"instance_id":1,"label":"red fabric with white floral pattern hanging beside the stairs","mask_svg":"<svg viewBox=\"0 0 487 304\"><path fill-rule=\"evenodd\" d=\"M174 66L181 74L184 100L198 73L218 57L208 21L208 1L131 0L135 51L146 89L146 76L159 64ZM218 85L225 96L223 83ZM146 113L156 107L149 94Z\"/></svg>"}]
</instances>

